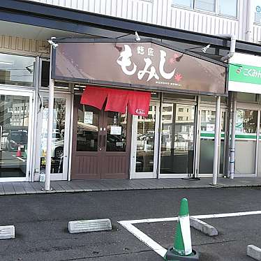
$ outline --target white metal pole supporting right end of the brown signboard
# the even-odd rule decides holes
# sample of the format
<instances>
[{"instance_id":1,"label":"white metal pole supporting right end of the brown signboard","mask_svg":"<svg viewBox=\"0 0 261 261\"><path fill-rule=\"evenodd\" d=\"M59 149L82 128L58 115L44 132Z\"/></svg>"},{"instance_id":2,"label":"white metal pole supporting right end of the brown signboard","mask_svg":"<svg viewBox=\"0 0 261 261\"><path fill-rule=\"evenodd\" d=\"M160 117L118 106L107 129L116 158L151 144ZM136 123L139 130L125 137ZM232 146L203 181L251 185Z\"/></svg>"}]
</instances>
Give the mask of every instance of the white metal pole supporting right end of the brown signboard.
<instances>
[{"instance_id":1,"label":"white metal pole supporting right end of the brown signboard","mask_svg":"<svg viewBox=\"0 0 261 261\"><path fill-rule=\"evenodd\" d=\"M221 96L216 96L216 119L215 119L215 145L214 145L214 162L213 162L213 185L218 181L218 151L219 136L221 123Z\"/></svg>"}]
</instances>

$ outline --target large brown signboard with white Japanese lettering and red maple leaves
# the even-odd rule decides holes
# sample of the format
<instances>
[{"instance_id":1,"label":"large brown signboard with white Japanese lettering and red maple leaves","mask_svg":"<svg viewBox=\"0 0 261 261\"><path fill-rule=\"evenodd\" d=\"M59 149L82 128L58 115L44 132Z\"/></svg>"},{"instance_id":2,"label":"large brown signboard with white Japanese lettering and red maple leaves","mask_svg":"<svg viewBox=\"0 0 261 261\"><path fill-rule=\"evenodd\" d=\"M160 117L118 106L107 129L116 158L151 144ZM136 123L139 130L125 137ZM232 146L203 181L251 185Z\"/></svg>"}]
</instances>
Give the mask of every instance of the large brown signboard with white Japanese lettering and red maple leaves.
<instances>
[{"instance_id":1,"label":"large brown signboard with white Japanese lettering and red maple leaves","mask_svg":"<svg viewBox=\"0 0 261 261\"><path fill-rule=\"evenodd\" d=\"M117 87L225 94L226 67L151 42L59 43L52 77Z\"/></svg>"}]
</instances>

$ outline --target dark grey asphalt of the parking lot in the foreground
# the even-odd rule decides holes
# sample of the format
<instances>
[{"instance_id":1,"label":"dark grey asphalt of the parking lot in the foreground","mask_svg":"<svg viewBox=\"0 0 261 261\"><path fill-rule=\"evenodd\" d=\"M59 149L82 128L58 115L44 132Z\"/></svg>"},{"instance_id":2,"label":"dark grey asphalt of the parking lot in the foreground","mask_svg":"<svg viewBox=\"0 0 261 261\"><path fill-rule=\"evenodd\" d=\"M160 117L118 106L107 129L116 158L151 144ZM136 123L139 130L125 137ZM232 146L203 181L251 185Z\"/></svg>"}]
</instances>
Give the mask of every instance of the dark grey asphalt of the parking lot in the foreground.
<instances>
[{"instance_id":1,"label":"dark grey asphalt of the parking lot in the foreground","mask_svg":"<svg viewBox=\"0 0 261 261\"><path fill-rule=\"evenodd\" d=\"M1 261L163 260L118 221L177 216L187 197L190 214L261 210L258 188L100 191L1 196L0 225L15 225L15 239L0 241ZM68 233L68 221L110 218L112 231ZM191 230L193 248L204 261L251 261L246 246L261 247L261 215L204 220L218 229L207 237ZM172 245L175 222L136 224L161 246Z\"/></svg>"}]
</instances>

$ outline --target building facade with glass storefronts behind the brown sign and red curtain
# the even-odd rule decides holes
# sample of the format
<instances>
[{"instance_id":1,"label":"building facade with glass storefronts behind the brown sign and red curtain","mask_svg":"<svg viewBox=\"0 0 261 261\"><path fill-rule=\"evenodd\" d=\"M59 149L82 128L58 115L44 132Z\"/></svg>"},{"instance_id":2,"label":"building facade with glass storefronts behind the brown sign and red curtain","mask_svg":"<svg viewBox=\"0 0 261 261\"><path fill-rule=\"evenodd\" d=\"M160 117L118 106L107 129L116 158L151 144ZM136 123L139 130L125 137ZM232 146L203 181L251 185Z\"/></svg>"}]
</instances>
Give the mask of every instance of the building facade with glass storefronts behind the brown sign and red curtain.
<instances>
[{"instance_id":1,"label":"building facade with glass storefronts behind the brown sign and red curtain","mask_svg":"<svg viewBox=\"0 0 261 261\"><path fill-rule=\"evenodd\" d=\"M47 39L56 37L60 47L64 38L68 42L84 38L96 39L97 43L99 39L131 43L137 31L141 38L139 46L152 41L179 52L179 57L182 54L197 57L202 70L206 70L202 61L227 68L228 63L220 61L230 52L230 39L224 35L236 36L235 57L237 54L257 57L261 53L258 4L243 0L2 1L0 181L38 181L45 173L50 98ZM240 59L231 59L230 67L236 64L236 68L229 70L240 69L244 64ZM233 174L235 177L260 174L258 88L247 92L246 88L237 89L235 84L234 89L229 89L228 73L222 76L226 80L222 94L189 88L148 89L146 84L133 84L129 87L133 91L151 91L148 117L142 117L82 105L80 98L86 84L128 88L115 84L114 79L106 84L94 81L90 84L86 80L88 72L81 71L85 80L75 76L79 71L70 63L70 73L78 80L57 77L54 82L52 180L212 177L215 149L217 172L229 177L233 119ZM177 79L174 82L179 82ZM105 79L100 76L98 80ZM218 147L215 147L216 96L221 96ZM121 127L121 133L113 133L112 126ZM248 164L242 161L246 158Z\"/></svg>"}]
</instances>

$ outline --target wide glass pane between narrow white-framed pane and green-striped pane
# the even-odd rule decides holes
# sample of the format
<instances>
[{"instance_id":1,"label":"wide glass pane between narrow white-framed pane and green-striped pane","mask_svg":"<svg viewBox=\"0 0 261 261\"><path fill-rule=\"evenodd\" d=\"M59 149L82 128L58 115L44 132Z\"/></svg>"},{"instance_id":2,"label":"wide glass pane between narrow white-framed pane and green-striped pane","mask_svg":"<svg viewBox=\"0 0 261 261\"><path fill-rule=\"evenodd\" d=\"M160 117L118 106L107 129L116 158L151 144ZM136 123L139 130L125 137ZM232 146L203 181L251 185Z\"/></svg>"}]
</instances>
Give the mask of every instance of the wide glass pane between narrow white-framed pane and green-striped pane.
<instances>
[{"instance_id":1,"label":"wide glass pane between narrow white-framed pane and green-striped pane","mask_svg":"<svg viewBox=\"0 0 261 261\"><path fill-rule=\"evenodd\" d=\"M194 129L195 106L163 103L161 174L193 174Z\"/></svg>"}]
</instances>

